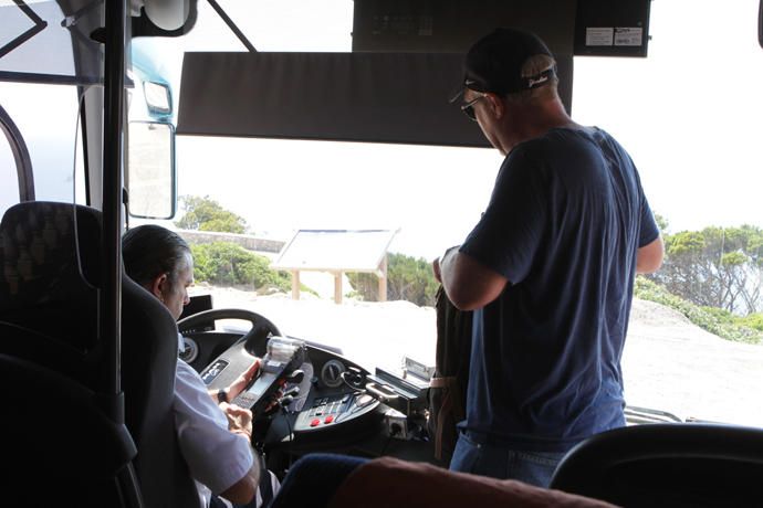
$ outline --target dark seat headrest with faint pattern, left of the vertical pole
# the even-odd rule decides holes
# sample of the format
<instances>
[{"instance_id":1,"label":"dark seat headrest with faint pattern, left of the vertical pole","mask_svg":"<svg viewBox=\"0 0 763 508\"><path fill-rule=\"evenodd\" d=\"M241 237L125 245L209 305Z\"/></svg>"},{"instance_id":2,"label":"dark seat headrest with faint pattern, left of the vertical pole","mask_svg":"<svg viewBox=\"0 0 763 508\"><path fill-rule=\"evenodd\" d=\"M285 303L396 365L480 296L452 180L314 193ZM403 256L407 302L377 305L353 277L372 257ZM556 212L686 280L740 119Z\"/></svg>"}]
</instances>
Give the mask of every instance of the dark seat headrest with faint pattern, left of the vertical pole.
<instances>
[{"instance_id":1,"label":"dark seat headrest with faint pattern, left of the vertical pole","mask_svg":"<svg viewBox=\"0 0 763 508\"><path fill-rule=\"evenodd\" d=\"M100 239L100 214L85 207L25 202L4 213L0 352L34 359L95 387Z\"/></svg>"}]
</instances>

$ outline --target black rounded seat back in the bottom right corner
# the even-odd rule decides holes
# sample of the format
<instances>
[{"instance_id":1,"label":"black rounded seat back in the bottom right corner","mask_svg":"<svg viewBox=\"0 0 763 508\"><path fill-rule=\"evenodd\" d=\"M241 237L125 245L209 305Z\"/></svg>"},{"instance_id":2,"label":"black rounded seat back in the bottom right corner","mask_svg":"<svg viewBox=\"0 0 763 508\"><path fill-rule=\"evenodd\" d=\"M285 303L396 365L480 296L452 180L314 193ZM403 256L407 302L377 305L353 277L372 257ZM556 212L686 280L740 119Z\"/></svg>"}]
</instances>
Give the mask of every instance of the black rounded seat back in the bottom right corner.
<instances>
[{"instance_id":1,"label":"black rounded seat back in the bottom right corner","mask_svg":"<svg viewBox=\"0 0 763 508\"><path fill-rule=\"evenodd\" d=\"M763 430L656 423L578 444L551 488L627 507L761 506L761 478Z\"/></svg>"}]
</instances>

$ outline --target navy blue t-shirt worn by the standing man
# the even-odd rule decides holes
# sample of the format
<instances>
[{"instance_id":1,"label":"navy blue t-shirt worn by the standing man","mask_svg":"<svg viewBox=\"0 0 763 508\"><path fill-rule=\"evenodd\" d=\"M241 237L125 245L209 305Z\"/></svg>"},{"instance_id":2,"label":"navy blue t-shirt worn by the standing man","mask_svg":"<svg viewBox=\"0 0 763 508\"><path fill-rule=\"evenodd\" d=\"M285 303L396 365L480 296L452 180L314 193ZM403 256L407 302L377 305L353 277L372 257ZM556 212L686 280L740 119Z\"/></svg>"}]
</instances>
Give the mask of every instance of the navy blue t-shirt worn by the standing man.
<instances>
[{"instance_id":1,"label":"navy blue t-shirt worn by the standing man","mask_svg":"<svg viewBox=\"0 0 763 508\"><path fill-rule=\"evenodd\" d=\"M467 430L563 452L625 424L638 247L659 230L623 147L555 128L514 147L460 251L509 279L474 314Z\"/></svg>"}]
</instances>

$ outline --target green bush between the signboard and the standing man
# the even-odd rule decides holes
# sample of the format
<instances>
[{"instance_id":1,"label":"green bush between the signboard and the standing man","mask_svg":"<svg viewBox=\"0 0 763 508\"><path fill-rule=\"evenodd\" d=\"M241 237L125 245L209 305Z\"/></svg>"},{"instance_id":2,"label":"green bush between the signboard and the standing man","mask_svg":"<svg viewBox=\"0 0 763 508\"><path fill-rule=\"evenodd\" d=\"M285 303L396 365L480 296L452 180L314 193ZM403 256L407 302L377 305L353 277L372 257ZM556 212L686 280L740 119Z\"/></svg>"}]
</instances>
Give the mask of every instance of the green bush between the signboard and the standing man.
<instances>
[{"instance_id":1,"label":"green bush between the signboard and the standing man","mask_svg":"<svg viewBox=\"0 0 763 508\"><path fill-rule=\"evenodd\" d=\"M378 300L378 278L374 274L347 274L353 288L366 300ZM431 264L422 257L390 253L387 257L387 298L433 306L438 283Z\"/></svg>"}]
</instances>

